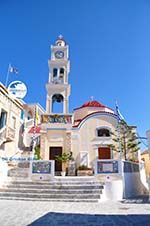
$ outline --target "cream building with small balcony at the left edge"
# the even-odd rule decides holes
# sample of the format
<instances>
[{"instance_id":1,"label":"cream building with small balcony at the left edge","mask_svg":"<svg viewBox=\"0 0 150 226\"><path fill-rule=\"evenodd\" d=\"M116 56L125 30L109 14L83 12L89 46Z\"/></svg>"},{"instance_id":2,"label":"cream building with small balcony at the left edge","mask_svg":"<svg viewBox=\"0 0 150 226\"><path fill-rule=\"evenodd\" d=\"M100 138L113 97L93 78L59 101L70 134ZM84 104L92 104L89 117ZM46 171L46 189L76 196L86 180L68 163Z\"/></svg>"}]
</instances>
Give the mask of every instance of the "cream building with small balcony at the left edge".
<instances>
[{"instance_id":1,"label":"cream building with small balcony at the left edge","mask_svg":"<svg viewBox=\"0 0 150 226\"><path fill-rule=\"evenodd\" d=\"M21 149L23 104L0 83L0 157L13 156Z\"/></svg>"}]
</instances>

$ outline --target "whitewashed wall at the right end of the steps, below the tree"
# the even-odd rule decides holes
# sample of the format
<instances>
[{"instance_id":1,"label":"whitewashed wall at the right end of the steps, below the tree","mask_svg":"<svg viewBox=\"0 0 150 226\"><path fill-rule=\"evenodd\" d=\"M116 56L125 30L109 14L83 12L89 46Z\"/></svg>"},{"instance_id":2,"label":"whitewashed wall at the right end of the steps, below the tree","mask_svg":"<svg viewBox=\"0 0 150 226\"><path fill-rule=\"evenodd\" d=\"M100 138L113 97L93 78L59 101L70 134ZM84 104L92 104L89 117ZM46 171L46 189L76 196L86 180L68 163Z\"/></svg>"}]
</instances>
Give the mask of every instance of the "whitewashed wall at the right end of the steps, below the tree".
<instances>
[{"instance_id":1,"label":"whitewashed wall at the right end of the steps, below the tree","mask_svg":"<svg viewBox=\"0 0 150 226\"><path fill-rule=\"evenodd\" d=\"M136 163L131 164L134 165ZM104 182L104 189L101 195L102 201L122 200L123 198L134 198L135 196L148 194L148 184L143 163L140 163L140 172L122 171L120 174L99 174L96 176L99 181Z\"/></svg>"}]
</instances>

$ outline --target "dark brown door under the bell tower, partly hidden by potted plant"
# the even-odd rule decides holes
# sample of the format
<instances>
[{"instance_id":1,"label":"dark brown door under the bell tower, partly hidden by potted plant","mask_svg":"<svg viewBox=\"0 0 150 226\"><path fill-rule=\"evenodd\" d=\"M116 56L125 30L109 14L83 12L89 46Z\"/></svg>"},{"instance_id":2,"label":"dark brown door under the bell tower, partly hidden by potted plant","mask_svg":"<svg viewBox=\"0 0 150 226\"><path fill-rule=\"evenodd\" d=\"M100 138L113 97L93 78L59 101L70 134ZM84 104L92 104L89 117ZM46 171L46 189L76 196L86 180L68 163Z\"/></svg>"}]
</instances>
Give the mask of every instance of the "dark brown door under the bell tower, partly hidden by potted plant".
<instances>
[{"instance_id":1,"label":"dark brown door under the bell tower, partly hidden by potted plant","mask_svg":"<svg viewBox=\"0 0 150 226\"><path fill-rule=\"evenodd\" d=\"M60 176L62 171L62 163L55 159L57 155L62 155L62 147L50 147L49 160L55 160L55 175Z\"/></svg>"}]
</instances>

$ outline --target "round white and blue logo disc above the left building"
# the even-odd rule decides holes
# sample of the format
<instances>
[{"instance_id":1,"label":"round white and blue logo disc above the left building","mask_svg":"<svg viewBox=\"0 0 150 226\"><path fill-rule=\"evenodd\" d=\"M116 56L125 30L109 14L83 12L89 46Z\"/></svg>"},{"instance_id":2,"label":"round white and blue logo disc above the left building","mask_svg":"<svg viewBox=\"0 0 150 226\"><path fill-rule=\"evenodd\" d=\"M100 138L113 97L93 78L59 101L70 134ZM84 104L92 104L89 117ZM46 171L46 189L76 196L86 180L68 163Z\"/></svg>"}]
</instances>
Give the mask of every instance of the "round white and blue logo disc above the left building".
<instances>
[{"instance_id":1,"label":"round white and blue logo disc above the left building","mask_svg":"<svg viewBox=\"0 0 150 226\"><path fill-rule=\"evenodd\" d=\"M8 86L8 91L18 99L23 99L27 94L27 87L21 81L13 81Z\"/></svg>"}]
</instances>

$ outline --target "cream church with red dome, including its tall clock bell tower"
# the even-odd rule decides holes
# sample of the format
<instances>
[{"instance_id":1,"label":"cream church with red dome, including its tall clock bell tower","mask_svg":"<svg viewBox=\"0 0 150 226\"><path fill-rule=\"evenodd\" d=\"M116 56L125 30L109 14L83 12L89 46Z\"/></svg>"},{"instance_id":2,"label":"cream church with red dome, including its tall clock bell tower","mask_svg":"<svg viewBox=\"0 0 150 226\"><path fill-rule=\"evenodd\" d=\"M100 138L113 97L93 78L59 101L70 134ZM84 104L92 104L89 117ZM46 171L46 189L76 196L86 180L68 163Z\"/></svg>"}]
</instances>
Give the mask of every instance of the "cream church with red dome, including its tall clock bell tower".
<instances>
[{"instance_id":1,"label":"cream church with red dome, including its tall clock bell tower","mask_svg":"<svg viewBox=\"0 0 150 226\"><path fill-rule=\"evenodd\" d=\"M51 46L48 64L46 114L41 116L41 158L55 160L56 155L72 152L77 167L91 168L98 159L119 159L119 154L110 148L111 134L118 125L114 110L90 100L69 113L69 47L62 37ZM61 113L53 111L55 102L62 102ZM55 160L55 171L61 170L61 163Z\"/></svg>"}]
</instances>

